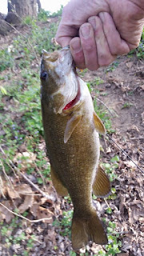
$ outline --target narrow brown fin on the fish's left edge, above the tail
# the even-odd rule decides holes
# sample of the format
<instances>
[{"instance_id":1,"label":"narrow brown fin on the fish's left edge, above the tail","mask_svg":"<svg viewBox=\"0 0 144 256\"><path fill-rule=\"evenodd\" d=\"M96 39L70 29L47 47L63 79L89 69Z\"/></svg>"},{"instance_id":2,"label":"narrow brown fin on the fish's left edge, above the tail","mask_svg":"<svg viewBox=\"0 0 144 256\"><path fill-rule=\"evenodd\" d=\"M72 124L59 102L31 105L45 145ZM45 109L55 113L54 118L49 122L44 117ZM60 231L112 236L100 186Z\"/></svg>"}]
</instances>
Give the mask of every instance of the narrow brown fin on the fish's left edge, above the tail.
<instances>
[{"instance_id":1,"label":"narrow brown fin on the fish's left edge, above the tail","mask_svg":"<svg viewBox=\"0 0 144 256\"><path fill-rule=\"evenodd\" d=\"M58 175L54 172L53 168L50 166L50 174L51 174L51 179L54 185L55 190L59 195L62 197L65 197L68 195L68 191L66 190L66 187L63 186L62 182L58 178Z\"/></svg>"}]
</instances>

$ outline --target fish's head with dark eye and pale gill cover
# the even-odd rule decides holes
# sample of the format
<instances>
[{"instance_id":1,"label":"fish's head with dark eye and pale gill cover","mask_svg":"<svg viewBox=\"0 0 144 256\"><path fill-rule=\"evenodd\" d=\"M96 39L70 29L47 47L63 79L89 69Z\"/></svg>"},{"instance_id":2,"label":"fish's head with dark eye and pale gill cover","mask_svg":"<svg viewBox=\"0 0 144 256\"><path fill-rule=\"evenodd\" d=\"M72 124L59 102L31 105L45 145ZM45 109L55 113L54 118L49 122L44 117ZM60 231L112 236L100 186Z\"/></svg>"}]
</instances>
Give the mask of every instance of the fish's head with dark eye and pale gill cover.
<instances>
[{"instance_id":1,"label":"fish's head with dark eye and pale gill cover","mask_svg":"<svg viewBox=\"0 0 144 256\"><path fill-rule=\"evenodd\" d=\"M56 114L61 114L78 94L78 74L68 46L48 53L42 50L41 96Z\"/></svg>"}]
</instances>

